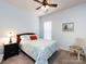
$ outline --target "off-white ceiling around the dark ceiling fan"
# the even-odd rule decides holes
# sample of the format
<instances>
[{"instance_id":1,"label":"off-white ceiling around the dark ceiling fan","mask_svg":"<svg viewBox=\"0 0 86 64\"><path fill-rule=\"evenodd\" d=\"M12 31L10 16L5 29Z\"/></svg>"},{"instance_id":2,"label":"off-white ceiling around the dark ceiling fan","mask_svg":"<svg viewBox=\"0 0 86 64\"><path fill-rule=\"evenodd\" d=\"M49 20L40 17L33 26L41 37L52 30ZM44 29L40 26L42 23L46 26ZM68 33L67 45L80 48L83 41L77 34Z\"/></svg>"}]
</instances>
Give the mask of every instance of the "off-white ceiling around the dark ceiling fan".
<instances>
[{"instance_id":1,"label":"off-white ceiling around the dark ceiling fan","mask_svg":"<svg viewBox=\"0 0 86 64\"><path fill-rule=\"evenodd\" d=\"M40 4L33 0L4 0L4 1L23 11L33 11L38 16L86 2L86 0L51 0L52 3L58 3L58 8L50 8L49 11L45 13L42 10L36 10L36 8L39 7Z\"/></svg>"}]
</instances>

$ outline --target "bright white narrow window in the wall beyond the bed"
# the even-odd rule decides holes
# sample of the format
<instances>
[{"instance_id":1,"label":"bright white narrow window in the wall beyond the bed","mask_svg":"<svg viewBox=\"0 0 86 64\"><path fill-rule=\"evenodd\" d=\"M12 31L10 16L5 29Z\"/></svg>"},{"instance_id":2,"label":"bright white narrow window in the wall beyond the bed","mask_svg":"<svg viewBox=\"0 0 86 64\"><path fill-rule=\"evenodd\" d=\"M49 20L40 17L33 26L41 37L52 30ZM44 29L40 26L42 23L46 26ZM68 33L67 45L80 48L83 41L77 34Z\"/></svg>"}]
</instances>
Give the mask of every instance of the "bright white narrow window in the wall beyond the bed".
<instances>
[{"instance_id":1,"label":"bright white narrow window in the wall beyond the bed","mask_svg":"<svg viewBox=\"0 0 86 64\"><path fill-rule=\"evenodd\" d=\"M52 22L44 22L44 39L51 39Z\"/></svg>"}]
</instances>

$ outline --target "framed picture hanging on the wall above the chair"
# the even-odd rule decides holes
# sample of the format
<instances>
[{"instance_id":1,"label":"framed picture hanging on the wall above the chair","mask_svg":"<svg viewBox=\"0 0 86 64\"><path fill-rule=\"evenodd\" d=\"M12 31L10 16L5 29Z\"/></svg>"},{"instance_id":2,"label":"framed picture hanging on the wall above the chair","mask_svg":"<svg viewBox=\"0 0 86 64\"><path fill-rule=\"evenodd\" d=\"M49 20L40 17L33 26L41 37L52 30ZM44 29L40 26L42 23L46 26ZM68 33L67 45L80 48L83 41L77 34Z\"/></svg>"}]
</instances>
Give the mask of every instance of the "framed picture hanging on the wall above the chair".
<instances>
[{"instance_id":1,"label":"framed picture hanging on the wall above the chair","mask_svg":"<svg viewBox=\"0 0 86 64\"><path fill-rule=\"evenodd\" d=\"M62 23L62 31L74 31L74 23Z\"/></svg>"}]
</instances>

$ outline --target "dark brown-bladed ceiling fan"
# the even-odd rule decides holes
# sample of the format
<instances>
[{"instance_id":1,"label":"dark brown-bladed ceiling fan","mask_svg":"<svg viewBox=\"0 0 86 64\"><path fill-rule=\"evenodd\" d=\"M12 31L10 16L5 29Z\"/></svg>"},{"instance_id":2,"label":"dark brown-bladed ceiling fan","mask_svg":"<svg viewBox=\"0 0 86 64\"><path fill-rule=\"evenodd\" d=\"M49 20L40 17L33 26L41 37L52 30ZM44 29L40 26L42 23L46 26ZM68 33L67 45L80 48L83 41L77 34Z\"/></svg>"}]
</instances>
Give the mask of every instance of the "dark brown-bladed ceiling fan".
<instances>
[{"instance_id":1,"label":"dark brown-bladed ceiling fan","mask_svg":"<svg viewBox=\"0 0 86 64\"><path fill-rule=\"evenodd\" d=\"M41 4L40 7L36 8L36 10L41 9L41 7L45 7L45 8L46 7L52 7L52 8L57 8L58 7L58 4L49 3L47 0L42 0L42 1L34 0L34 1L36 1L36 2Z\"/></svg>"}]
</instances>

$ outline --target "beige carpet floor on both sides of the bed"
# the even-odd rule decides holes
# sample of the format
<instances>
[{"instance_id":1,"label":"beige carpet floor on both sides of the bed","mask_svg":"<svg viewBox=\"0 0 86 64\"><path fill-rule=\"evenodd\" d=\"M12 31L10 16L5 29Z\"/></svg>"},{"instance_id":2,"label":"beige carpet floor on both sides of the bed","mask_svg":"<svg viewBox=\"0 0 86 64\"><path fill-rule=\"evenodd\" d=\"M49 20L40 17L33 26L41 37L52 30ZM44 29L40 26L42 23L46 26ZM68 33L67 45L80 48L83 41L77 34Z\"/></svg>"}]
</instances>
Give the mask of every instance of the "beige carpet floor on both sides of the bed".
<instances>
[{"instance_id":1,"label":"beige carpet floor on both sides of the bed","mask_svg":"<svg viewBox=\"0 0 86 64\"><path fill-rule=\"evenodd\" d=\"M35 64L35 62L21 52L19 55L2 61L1 64ZM49 64L86 64L86 61L77 61L76 56L70 55L69 52L60 50L49 59Z\"/></svg>"}]
</instances>

